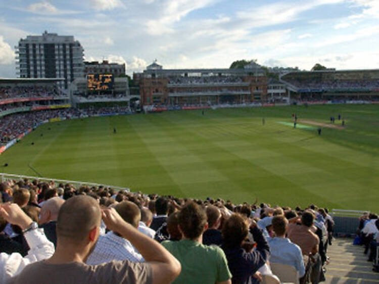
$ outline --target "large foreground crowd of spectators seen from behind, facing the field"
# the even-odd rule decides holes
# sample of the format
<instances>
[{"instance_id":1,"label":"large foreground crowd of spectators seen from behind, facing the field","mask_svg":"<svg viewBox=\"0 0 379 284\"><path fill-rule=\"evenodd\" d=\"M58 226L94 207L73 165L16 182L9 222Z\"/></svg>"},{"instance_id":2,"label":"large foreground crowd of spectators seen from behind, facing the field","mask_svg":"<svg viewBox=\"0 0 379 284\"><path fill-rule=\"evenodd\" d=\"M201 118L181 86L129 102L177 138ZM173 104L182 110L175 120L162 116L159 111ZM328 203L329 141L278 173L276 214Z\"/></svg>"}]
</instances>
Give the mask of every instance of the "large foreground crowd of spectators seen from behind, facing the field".
<instances>
[{"instance_id":1,"label":"large foreground crowd of spectators seen from behind, facing the field","mask_svg":"<svg viewBox=\"0 0 379 284\"><path fill-rule=\"evenodd\" d=\"M279 283L277 264L293 267L302 283L324 280L334 222L315 205L232 204L28 179L9 179L0 192L11 202L0 206L3 282L228 284L269 276Z\"/></svg>"}]
</instances>

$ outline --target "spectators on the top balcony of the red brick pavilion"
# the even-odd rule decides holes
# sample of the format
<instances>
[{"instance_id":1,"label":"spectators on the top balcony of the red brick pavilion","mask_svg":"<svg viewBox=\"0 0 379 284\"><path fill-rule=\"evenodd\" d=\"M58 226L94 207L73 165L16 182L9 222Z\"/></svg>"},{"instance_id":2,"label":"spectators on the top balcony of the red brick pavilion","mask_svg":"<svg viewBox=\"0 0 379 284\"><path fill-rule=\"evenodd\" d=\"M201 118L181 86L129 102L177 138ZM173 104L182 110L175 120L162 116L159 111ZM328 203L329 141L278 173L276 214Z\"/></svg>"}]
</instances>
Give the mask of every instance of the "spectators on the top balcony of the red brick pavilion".
<instances>
[{"instance_id":1,"label":"spectators on the top balcony of the red brick pavilion","mask_svg":"<svg viewBox=\"0 0 379 284\"><path fill-rule=\"evenodd\" d=\"M222 84L222 83L242 83L243 80L239 76L191 76L179 77L169 76L168 83L172 85L182 84Z\"/></svg>"}]
</instances>

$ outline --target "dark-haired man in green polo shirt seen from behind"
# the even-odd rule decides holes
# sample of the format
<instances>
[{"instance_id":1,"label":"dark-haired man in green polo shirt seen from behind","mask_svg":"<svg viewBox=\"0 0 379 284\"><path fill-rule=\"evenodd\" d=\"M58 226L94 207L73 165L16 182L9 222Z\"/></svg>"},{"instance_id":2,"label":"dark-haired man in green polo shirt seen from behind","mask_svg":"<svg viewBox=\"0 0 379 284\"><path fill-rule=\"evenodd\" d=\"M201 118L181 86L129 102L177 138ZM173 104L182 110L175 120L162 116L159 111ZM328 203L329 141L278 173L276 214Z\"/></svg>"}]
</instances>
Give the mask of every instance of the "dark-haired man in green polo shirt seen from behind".
<instances>
[{"instance_id":1,"label":"dark-haired man in green polo shirt seen from behind","mask_svg":"<svg viewBox=\"0 0 379 284\"><path fill-rule=\"evenodd\" d=\"M203 232L208 228L205 210L188 202L180 210L178 219L183 239L162 243L181 264L180 275L172 283L230 284L231 273L224 252L217 246L202 244Z\"/></svg>"}]
</instances>

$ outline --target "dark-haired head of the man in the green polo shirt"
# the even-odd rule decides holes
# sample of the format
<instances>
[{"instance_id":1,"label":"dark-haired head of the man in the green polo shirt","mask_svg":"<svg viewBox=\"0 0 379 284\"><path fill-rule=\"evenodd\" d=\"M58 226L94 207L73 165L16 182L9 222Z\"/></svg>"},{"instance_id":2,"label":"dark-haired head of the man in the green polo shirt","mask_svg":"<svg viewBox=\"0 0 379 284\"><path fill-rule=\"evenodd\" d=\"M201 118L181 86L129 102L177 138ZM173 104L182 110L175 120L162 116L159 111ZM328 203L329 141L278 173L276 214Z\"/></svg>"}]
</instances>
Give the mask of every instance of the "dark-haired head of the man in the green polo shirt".
<instances>
[{"instance_id":1,"label":"dark-haired head of the man in the green polo shirt","mask_svg":"<svg viewBox=\"0 0 379 284\"><path fill-rule=\"evenodd\" d=\"M189 240L198 239L208 228L205 210L193 201L187 202L181 208L178 219L179 230Z\"/></svg>"}]
</instances>

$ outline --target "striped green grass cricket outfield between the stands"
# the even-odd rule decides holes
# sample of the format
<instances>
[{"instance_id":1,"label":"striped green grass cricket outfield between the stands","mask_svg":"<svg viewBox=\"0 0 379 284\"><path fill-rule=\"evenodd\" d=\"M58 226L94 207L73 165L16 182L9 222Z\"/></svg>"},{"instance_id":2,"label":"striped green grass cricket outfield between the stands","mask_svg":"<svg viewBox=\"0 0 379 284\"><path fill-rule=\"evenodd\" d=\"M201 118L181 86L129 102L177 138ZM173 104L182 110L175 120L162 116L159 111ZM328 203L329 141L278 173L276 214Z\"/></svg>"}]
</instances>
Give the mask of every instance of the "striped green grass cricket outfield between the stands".
<instances>
[{"instance_id":1,"label":"striped green grass cricket outfield between the stands","mask_svg":"<svg viewBox=\"0 0 379 284\"><path fill-rule=\"evenodd\" d=\"M343 130L298 123L329 123ZM265 125L262 125L262 117ZM341 125L341 121L336 120ZM301 127L300 127L301 126ZM113 133L117 128L117 134ZM49 128L51 128L49 130ZM43 134L43 136L41 136ZM31 143L34 142L34 145ZM87 118L40 126L1 171L233 202L378 211L379 105L292 106Z\"/></svg>"}]
</instances>

